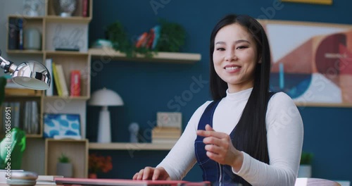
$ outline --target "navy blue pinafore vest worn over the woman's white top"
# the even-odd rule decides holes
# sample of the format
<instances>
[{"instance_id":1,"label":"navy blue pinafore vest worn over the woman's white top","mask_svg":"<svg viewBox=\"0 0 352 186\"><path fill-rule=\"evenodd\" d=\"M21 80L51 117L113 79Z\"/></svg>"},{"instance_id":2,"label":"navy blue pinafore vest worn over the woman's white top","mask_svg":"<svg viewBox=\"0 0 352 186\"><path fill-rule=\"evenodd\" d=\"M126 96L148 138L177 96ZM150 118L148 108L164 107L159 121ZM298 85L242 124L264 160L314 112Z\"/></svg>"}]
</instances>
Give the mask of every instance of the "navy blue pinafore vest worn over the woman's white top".
<instances>
[{"instance_id":1,"label":"navy blue pinafore vest worn over the woman's white top","mask_svg":"<svg viewBox=\"0 0 352 186\"><path fill-rule=\"evenodd\" d=\"M269 99L273 94L275 93L270 92ZM206 107L206 110L199 120L198 130L205 130L206 124L209 124L213 128L213 114L220 101L221 99L213 101ZM241 122L241 120L239 120L239 122ZM239 125L239 123L237 123L237 125ZM234 130L236 130L236 128L234 128ZM234 130L230 133L232 140L234 139ZM194 142L196 159L203 171L203 181L210 181L212 185L239 185L239 183L242 185L250 185L249 182L246 182L246 180L239 175L232 173L231 166L222 165L209 159L208 156L206 156L206 144L203 143L203 139L204 137L197 136Z\"/></svg>"}]
</instances>

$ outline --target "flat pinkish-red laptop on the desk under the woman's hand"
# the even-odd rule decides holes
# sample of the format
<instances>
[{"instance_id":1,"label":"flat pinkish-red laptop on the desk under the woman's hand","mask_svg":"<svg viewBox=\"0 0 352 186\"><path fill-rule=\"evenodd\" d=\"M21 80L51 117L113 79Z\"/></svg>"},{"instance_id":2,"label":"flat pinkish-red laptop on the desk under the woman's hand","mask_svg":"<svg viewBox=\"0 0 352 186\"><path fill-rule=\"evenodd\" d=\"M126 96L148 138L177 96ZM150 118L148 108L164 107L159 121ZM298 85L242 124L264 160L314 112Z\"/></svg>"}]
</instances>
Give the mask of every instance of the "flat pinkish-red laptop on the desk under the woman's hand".
<instances>
[{"instance_id":1,"label":"flat pinkish-red laptop on the desk under the woman's hand","mask_svg":"<svg viewBox=\"0 0 352 186\"><path fill-rule=\"evenodd\" d=\"M187 182L176 180L55 178L55 182L56 185L210 186L210 182Z\"/></svg>"}]
</instances>

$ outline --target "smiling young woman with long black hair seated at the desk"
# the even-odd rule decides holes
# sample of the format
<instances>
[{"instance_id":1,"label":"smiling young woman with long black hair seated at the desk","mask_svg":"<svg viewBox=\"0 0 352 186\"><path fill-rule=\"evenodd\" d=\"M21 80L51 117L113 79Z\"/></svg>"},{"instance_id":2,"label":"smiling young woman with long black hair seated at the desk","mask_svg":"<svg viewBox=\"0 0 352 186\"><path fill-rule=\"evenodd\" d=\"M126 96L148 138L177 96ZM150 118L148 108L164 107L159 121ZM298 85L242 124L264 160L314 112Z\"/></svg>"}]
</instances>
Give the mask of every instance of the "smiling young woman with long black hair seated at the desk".
<instances>
[{"instance_id":1,"label":"smiling young woman with long black hair seated at the desk","mask_svg":"<svg viewBox=\"0 0 352 186\"><path fill-rule=\"evenodd\" d=\"M303 122L294 101L269 92L270 46L263 27L228 15L210 36L210 90L180 140L134 180L181 180L197 162L218 185L294 185Z\"/></svg>"}]
</instances>

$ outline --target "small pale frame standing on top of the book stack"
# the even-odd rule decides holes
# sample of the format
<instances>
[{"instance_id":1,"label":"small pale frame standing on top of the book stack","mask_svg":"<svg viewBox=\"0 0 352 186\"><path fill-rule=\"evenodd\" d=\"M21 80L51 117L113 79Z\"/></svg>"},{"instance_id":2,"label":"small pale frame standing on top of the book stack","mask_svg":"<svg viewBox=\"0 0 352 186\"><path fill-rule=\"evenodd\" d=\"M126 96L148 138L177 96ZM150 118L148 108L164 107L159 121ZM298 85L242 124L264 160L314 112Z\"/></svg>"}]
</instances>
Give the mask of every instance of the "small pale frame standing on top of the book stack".
<instances>
[{"instance_id":1,"label":"small pale frame standing on top of the book stack","mask_svg":"<svg viewBox=\"0 0 352 186\"><path fill-rule=\"evenodd\" d=\"M157 112L157 126L162 128L182 128L182 113Z\"/></svg>"}]
</instances>

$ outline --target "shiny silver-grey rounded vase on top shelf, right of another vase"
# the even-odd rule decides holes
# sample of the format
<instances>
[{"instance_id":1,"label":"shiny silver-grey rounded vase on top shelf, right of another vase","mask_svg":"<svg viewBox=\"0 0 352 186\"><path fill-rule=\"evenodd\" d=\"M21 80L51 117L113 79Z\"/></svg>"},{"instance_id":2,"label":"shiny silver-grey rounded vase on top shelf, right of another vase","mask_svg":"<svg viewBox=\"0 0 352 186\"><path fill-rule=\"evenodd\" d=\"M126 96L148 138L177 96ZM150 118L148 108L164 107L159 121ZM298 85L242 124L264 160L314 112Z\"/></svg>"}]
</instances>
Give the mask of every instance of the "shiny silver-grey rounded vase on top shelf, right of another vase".
<instances>
[{"instance_id":1,"label":"shiny silver-grey rounded vase on top shelf, right of another vase","mask_svg":"<svg viewBox=\"0 0 352 186\"><path fill-rule=\"evenodd\" d=\"M56 15L70 17L77 8L77 0L56 0L53 5Z\"/></svg>"}]
</instances>

